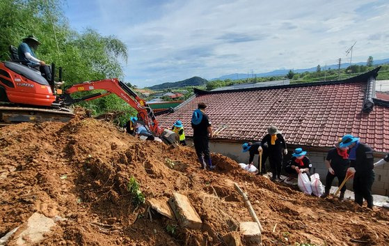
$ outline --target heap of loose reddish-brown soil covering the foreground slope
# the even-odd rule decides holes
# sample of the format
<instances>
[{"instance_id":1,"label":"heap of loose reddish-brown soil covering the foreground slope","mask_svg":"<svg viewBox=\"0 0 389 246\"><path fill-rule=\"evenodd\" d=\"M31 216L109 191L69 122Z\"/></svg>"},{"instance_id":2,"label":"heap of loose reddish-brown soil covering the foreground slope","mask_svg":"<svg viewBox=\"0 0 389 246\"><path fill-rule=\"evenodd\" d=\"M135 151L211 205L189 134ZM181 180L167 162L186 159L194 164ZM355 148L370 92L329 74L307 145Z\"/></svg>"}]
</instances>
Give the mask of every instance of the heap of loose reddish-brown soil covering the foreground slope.
<instances>
[{"instance_id":1,"label":"heap of loose reddish-brown soil covering the foreground slope","mask_svg":"<svg viewBox=\"0 0 389 246\"><path fill-rule=\"evenodd\" d=\"M241 237L239 222L252 221L236 182L264 227L264 245L389 245L388 210L311 197L248 174L228 157L212 160L216 171L199 169L190 147L141 141L82 116L3 127L0 238L38 213L55 219L41 245L226 245L227 235ZM148 203L136 206L127 190L132 177L146 201L186 195L201 229L155 214L150 221ZM8 244L18 245L16 237Z\"/></svg>"}]
</instances>

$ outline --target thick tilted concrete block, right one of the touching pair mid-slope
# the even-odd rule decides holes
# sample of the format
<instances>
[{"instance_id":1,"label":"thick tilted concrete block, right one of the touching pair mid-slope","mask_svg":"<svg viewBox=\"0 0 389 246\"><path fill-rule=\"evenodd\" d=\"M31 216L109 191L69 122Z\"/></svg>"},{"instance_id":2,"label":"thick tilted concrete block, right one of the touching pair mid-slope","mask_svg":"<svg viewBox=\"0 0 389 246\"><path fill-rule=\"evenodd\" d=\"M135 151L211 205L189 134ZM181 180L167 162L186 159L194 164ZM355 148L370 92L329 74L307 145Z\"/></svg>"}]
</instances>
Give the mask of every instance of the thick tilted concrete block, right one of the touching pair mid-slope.
<instances>
[{"instance_id":1,"label":"thick tilted concrete block, right one of the touching pair mid-slope","mask_svg":"<svg viewBox=\"0 0 389 246\"><path fill-rule=\"evenodd\" d=\"M173 197L169 199L169 204L181 226L191 229L201 229L203 222L191 205L188 197L174 192Z\"/></svg>"}]
</instances>

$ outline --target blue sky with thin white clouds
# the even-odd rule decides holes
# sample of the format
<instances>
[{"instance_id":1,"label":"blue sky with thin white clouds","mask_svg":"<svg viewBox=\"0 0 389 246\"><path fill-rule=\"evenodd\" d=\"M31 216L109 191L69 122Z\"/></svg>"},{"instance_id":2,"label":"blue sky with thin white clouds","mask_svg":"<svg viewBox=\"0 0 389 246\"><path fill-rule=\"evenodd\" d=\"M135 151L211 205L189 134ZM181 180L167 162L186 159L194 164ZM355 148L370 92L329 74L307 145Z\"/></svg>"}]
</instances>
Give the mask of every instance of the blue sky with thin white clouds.
<instances>
[{"instance_id":1,"label":"blue sky with thin white clouds","mask_svg":"<svg viewBox=\"0 0 389 246\"><path fill-rule=\"evenodd\" d=\"M389 58L387 0L68 0L70 26L122 40L125 82L311 68ZM346 60L347 59L347 60Z\"/></svg>"}]
</instances>

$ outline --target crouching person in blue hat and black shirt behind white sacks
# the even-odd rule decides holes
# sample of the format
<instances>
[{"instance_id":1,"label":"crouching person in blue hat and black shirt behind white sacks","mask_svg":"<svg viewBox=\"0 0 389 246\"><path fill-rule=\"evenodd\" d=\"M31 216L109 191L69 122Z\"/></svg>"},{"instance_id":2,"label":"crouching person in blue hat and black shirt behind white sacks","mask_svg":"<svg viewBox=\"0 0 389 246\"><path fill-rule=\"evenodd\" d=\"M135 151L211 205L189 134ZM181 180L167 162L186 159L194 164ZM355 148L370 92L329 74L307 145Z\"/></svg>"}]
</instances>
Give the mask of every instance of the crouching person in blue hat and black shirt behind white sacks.
<instances>
[{"instance_id":1,"label":"crouching person in blue hat and black shirt behind white sacks","mask_svg":"<svg viewBox=\"0 0 389 246\"><path fill-rule=\"evenodd\" d=\"M289 174L289 178L296 176L299 173L306 173L310 176L310 168L312 164L310 160L305 155L307 151L303 151L302 148L296 148L294 153L292 153L292 158L285 165L285 171Z\"/></svg>"}]
</instances>

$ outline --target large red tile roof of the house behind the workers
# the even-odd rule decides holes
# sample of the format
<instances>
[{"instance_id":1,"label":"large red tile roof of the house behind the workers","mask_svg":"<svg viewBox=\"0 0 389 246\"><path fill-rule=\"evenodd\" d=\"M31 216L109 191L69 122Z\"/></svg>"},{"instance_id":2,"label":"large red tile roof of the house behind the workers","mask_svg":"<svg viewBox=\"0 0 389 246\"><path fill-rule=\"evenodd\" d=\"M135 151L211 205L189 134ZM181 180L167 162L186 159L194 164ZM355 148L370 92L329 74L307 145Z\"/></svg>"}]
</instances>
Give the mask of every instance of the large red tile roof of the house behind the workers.
<instances>
[{"instance_id":1,"label":"large red tile roof of the house behind the workers","mask_svg":"<svg viewBox=\"0 0 389 246\"><path fill-rule=\"evenodd\" d=\"M378 71L378 70L377 70ZM173 114L158 116L168 127L180 119L191 136L191 114L198 102L207 104L206 113L214 130L228 128L221 139L258 140L267 127L276 125L287 144L331 147L344 134L354 134L374 151L389 152L389 102L374 100L372 112L363 112L370 72L339 82L317 82L231 91L199 91Z\"/></svg>"}]
</instances>

